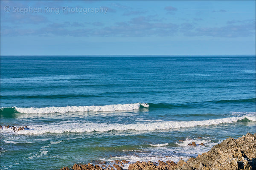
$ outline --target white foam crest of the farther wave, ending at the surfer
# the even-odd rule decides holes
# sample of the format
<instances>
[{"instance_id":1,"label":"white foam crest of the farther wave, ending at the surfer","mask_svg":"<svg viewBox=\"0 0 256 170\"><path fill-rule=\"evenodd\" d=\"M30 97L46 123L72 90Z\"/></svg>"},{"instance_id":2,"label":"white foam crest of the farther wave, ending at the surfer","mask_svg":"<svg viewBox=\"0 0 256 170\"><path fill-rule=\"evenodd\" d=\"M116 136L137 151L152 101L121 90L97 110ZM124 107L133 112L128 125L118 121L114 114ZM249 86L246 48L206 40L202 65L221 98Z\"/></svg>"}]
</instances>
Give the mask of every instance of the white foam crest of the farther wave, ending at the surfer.
<instances>
[{"instance_id":1,"label":"white foam crest of the farther wave, ending at the surfer","mask_svg":"<svg viewBox=\"0 0 256 170\"><path fill-rule=\"evenodd\" d=\"M16 111L20 113L67 113L67 112L88 112L88 111L131 111L139 109L140 105L148 108L149 105L144 103L132 103L124 105L105 105L105 106L66 106L66 107L46 107L46 108L17 108Z\"/></svg>"}]
</instances>

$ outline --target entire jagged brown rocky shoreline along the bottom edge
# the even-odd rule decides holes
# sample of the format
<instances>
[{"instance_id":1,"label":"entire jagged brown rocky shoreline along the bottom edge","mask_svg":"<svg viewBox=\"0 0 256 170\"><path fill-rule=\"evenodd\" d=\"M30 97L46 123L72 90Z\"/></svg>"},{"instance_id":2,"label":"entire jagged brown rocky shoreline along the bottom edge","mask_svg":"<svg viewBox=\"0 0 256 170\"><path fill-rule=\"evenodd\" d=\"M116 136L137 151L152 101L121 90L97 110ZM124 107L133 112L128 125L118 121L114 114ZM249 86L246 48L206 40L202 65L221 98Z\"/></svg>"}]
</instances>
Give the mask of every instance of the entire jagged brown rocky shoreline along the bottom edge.
<instances>
[{"instance_id":1,"label":"entire jagged brown rocky shoreline along the bottom edge","mask_svg":"<svg viewBox=\"0 0 256 170\"><path fill-rule=\"evenodd\" d=\"M192 143L191 145L196 146ZM73 170L122 170L128 164L126 160L116 160L113 166L105 161L96 161L96 164L74 164ZM241 138L227 138L220 144L215 145L206 153L190 158L174 161L140 162L129 164L128 170L255 170L256 169L256 133L247 133ZM70 170L63 167L61 170Z\"/></svg>"}]
</instances>

